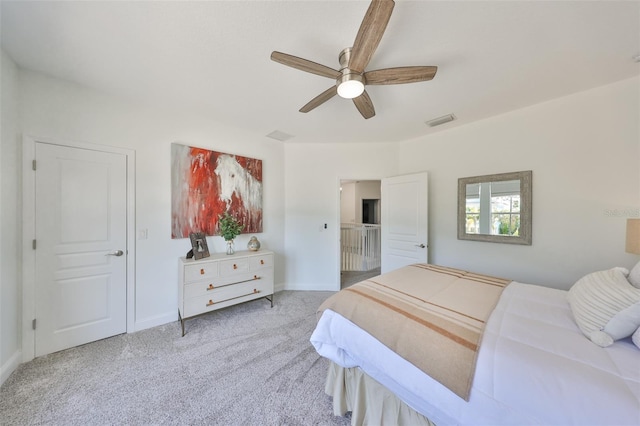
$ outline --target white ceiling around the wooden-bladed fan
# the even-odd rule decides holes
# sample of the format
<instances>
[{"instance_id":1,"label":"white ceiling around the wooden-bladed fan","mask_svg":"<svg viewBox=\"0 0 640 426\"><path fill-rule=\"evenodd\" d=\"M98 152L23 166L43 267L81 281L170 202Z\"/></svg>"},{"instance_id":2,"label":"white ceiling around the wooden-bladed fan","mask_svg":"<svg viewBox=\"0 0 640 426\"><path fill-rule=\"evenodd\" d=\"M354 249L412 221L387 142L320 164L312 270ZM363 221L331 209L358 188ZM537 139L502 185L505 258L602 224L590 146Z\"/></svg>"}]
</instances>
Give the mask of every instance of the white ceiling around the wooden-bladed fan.
<instances>
[{"instance_id":1,"label":"white ceiling around the wooden-bladed fan","mask_svg":"<svg viewBox=\"0 0 640 426\"><path fill-rule=\"evenodd\" d=\"M198 108L288 143L420 137L640 73L638 1L397 0L367 70L437 65L429 82L368 86L365 120L330 79L273 50L339 68L368 1L6 1L2 46L23 68L118 96ZM453 113L437 128L425 121ZM541 123L544 125L544 123Z\"/></svg>"}]
</instances>

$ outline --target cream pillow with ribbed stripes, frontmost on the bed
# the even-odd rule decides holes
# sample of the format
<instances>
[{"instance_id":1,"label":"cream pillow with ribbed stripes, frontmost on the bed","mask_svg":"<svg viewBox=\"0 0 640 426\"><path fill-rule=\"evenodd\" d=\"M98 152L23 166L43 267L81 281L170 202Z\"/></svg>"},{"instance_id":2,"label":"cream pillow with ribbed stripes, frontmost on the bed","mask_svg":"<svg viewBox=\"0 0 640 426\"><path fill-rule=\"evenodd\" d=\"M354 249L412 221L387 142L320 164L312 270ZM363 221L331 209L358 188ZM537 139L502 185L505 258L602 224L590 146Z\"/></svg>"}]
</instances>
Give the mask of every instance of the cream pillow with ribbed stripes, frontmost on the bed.
<instances>
[{"instance_id":1,"label":"cream pillow with ribbed stripes, frontmost on the bed","mask_svg":"<svg viewBox=\"0 0 640 426\"><path fill-rule=\"evenodd\" d=\"M640 327L640 289L627 281L625 272L624 268L594 272L569 290L576 324L598 346L609 346Z\"/></svg>"}]
</instances>

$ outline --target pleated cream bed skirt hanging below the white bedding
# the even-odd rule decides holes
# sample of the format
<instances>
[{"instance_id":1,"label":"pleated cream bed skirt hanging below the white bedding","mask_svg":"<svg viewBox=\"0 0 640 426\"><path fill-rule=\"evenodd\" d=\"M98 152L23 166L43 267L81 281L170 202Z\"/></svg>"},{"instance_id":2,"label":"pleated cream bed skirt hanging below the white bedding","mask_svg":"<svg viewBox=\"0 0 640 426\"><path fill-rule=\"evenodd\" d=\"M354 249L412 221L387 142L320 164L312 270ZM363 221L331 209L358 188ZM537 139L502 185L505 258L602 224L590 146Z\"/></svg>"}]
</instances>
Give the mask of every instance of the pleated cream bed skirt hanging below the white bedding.
<instances>
[{"instance_id":1,"label":"pleated cream bed skirt hanging below the white bedding","mask_svg":"<svg viewBox=\"0 0 640 426\"><path fill-rule=\"evenodd\" d=\"M324 391L333 397L333 414L351 411L351 424L435 426L359 368L331 362Z\"/></svg>"}]
</instances>

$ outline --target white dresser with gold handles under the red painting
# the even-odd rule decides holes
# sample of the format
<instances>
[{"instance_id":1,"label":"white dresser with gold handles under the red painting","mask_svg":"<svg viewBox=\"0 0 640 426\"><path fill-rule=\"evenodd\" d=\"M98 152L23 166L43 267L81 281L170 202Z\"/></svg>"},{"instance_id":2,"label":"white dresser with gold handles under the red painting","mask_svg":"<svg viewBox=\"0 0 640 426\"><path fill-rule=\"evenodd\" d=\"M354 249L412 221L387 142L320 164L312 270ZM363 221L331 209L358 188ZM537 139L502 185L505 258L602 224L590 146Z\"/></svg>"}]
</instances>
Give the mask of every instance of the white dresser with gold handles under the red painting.
<instances>
[{"instance_id":1,"label":"white dresser with gold handles under the red painting","mask_svg":"<svg viewBox=\"0 0 640 426\"><path fill-rule=\"evenodd\" d=\"M273 252L215 253L178 262L178 315L184 321L227 306L265 297L273 307Z\"/></svg>"}]
</instances>

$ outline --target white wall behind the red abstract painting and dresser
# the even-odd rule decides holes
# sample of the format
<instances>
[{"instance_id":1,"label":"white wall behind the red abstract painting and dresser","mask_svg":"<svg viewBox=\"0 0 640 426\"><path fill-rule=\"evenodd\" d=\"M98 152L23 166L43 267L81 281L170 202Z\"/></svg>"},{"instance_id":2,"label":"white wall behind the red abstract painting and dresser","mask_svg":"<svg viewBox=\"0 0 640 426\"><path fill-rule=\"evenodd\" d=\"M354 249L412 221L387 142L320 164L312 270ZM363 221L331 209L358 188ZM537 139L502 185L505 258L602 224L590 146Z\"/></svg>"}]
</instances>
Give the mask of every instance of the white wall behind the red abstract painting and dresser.
<instances>
[{"instance_id":1,"label":"white wall behind the red abstract painting and dresser","mask_svg":"<svg viewBox=\"0 0 640 426\"><path fill-rule=\"evenodd\" d=\"M283 286L281 142L220 125L206 110L135 104L34 72L20 72L20 88L25 135L136 151L136 229L148 230L148 239L136 242L136 330L177 319L177 259L191 248L188 239L171 239L173 142L263 160L264 232L257 236L263 248L276 253L276 286ZM236 247L246 247L249 237L238 237ZM208 245L211 252L225 250L222 237L209 237Z\"/></svg>"}]
</instances>

